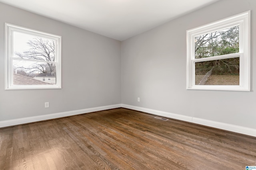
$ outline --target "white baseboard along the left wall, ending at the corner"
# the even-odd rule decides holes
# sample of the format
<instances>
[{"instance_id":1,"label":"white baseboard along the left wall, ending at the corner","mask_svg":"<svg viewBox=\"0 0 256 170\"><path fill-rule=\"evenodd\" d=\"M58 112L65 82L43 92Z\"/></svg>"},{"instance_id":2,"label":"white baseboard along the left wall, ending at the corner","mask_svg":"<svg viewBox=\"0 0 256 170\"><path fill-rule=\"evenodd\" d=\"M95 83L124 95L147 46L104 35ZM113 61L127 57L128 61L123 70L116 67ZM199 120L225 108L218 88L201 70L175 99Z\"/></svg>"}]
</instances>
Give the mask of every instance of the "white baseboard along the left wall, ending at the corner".
<instances>
[{"instance_id":1,"label":"white baseboard along the left wall, ending at the corner","mask_svg":"<svg viewBox=\"0 0 256 170\"><path fill-rule=\"evenodd\" d=\"M20 119L0 121L0 127L21 125L21 124L25 124L25 123L44 121L44 120L49 120L49 119L56 119L56 118L60 118L60 117L79 115L79 114L90 113L90 112L94 112L94 111L114 109L114 108L118 108L118 107L121 107L121 104L101 106L101 107L92 107L92 108L88 108L88 109L65 111L65 112L61 112L61 113L53 113L53 114L48 114L48 115L40 115L40 116L24 117L24 118L20 118Z\"/></svg>"}]
</instances>

